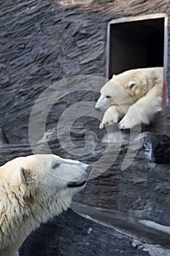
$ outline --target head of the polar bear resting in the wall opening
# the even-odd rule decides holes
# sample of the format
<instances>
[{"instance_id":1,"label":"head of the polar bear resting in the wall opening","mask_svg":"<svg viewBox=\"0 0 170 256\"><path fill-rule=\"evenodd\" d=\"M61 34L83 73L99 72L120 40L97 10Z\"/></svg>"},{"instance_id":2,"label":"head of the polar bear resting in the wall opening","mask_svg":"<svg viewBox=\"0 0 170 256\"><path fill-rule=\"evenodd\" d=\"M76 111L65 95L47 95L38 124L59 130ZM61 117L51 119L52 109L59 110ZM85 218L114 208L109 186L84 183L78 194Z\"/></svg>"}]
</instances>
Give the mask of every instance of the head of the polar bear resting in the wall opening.
<instances>
[{"instance_id":1,"label":"head of the polar bear resting in the wall opening","mask_svg":"<svg viewBox=\"0 0 170 256\"><path fill-rule=\"evenodd\" d=\"M131 69L113 75L112 79L101 88L101 96L95 108L106 110L110 105L130 106L152 88L155 78L156 75L152 75L152 68Z\"/></svg>"}]
</instances>

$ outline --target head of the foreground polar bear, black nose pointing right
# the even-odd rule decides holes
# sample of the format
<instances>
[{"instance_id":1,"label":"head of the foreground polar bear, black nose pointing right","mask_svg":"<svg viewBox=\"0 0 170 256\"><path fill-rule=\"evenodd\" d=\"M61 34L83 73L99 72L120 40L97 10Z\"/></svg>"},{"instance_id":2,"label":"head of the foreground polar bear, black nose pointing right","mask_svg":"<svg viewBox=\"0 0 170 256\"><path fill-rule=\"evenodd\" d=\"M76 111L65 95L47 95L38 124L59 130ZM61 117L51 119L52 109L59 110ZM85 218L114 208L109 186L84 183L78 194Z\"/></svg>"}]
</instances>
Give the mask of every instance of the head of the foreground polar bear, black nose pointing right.
<instances>
[{"instance_id":1,"label":"head of the foreground polar bear, black nose pointing right","mask_svg":"<svg viewBox=\"0 0 170 256\"><path fill-rule=\"evenodd\" d=\"M7 162L0 167L0 178L9 184L9 191L24 200L30 195L37 200L58 197L55 212L58 214L62 208L69 207L72 196L85 187L89 170L89 165L79 161L54 154L36 154Z\"/></svg>"}]
</instances>

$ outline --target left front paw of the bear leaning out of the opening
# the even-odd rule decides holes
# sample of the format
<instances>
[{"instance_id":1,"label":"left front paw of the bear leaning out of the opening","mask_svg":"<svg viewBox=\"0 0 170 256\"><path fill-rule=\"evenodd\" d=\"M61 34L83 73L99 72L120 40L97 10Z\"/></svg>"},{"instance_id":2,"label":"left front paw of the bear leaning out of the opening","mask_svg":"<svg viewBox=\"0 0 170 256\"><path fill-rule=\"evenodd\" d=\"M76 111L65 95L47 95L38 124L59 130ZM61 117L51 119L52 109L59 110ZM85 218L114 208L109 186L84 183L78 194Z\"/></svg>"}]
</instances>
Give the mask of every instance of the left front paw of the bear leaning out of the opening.
<instances>
[{"instance_id":1,"label":"left front paw of the bear leaning out of the opening","mask_svg":"<svg viewBox=\"0 0 170 256\"><path fill-rule=\"evenodd\" d=\"M123 116L123 110L118 105L112 105L104 112L104 116L99 126L100 129L108 127L111 124L118 123Z\"/></svg>"}]
</instances>

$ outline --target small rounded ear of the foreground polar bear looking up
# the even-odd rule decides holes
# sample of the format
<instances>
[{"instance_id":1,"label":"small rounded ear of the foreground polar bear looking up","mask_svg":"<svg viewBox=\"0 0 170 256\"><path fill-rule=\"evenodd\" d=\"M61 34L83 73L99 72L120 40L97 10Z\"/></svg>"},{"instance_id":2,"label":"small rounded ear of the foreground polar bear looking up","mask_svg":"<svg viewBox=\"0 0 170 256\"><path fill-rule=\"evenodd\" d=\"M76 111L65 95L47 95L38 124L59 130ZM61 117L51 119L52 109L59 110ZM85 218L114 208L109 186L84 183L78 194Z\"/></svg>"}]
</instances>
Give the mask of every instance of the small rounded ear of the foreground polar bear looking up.
<instances>
[{"instance_id":1,"label":"small rounded ear of the foreground polar bear looking up","mask_svg":"<svg viewBox=\"0 0 170 256\"><path fill-rule=\"evenodd\" d=\"M14 185L26 184L26 169L22 166L18 167L11 176L11 182Z\"/></svg>"}]
</instances>

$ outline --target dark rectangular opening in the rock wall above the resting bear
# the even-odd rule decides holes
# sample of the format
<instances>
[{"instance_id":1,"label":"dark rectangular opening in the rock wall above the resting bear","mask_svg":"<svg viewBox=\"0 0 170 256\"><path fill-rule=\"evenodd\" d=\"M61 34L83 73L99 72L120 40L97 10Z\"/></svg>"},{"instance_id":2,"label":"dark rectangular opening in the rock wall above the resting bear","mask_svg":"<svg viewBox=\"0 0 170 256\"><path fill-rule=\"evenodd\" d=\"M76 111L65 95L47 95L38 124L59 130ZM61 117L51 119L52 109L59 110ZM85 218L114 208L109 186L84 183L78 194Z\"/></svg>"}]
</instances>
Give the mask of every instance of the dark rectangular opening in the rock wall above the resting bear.
<instances>
[{"instance_id":1,"label":"dark rectangular opening in the rock wall above the resting bear","mask_svg":"<svg viewBox=\"0 0 170 256\"><path fill-rule=\"evenodd\" d=\"M108 78L128 69L163 67L163 48L164 18L110 23Z\"/></svg>"}]
</instances>

